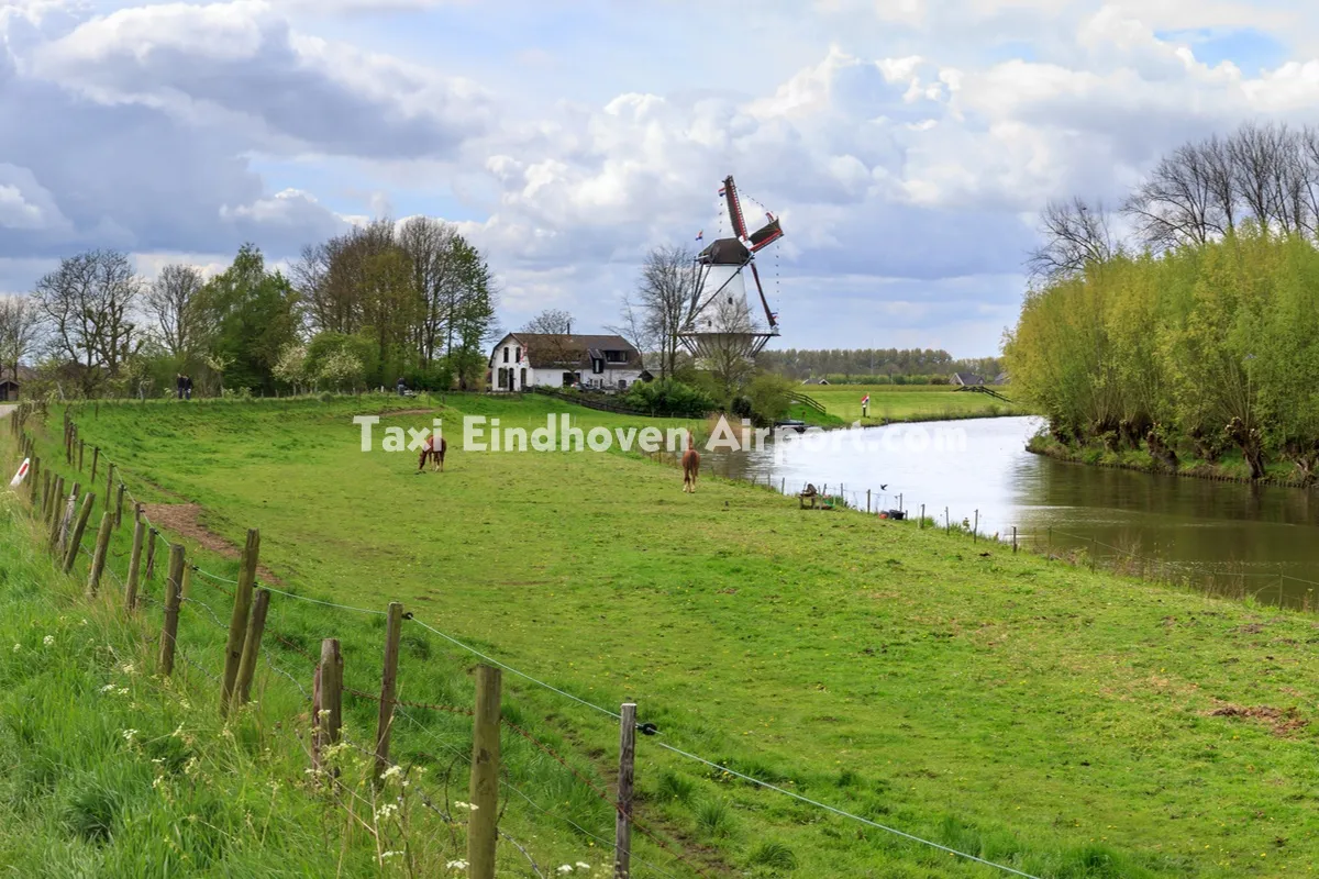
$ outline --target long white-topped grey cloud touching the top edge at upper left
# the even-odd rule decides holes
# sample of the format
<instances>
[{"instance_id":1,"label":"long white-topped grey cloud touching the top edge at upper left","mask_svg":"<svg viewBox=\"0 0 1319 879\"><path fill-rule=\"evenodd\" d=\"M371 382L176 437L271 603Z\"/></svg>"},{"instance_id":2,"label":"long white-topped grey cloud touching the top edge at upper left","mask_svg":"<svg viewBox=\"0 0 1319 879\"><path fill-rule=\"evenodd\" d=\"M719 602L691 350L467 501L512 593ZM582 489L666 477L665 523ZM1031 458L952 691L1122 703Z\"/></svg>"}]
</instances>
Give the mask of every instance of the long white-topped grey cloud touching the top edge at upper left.
<instances>
[{"instance_id":1,"label":"long white-topped grey cloud touching the top edge at upper left","mask_svg":"<svg viewBox=\"0 0 1319 879\"><path fill-rule=\"evenodd\" d=\"M475 83L298 34L262 0L121 9L41 46L33 70L102 104L243 127L268 149L443 156L487 125Z\"/></svg>"}]
</instances>

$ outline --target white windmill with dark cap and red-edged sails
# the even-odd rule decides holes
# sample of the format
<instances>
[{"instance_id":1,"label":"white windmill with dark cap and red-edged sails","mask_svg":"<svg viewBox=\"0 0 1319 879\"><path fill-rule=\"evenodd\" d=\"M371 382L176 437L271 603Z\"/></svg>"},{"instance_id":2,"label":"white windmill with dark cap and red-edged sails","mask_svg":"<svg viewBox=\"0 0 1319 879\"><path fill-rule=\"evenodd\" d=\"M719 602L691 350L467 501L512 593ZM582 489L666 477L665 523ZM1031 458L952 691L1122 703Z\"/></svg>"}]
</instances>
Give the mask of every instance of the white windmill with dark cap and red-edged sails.
<instances>
[{"instance_id":1,"label":"white windmill with dark cap and red-edged sails","mask_svg":"<svg viewBox=\"0 0 1319 879\"><path fill-rule=\"evenodd\" d=\"M783 237L773 213L747 235L737 187L729 174L719 195L728 206L733 237L718 239L692 261L691 299L678 339L698 361L716 356L752 358L778 335L778 315L769 310L756 269L756 253ZM756 282L758 307L747 291L745 270Z\"/></svg>"}]
</instances>

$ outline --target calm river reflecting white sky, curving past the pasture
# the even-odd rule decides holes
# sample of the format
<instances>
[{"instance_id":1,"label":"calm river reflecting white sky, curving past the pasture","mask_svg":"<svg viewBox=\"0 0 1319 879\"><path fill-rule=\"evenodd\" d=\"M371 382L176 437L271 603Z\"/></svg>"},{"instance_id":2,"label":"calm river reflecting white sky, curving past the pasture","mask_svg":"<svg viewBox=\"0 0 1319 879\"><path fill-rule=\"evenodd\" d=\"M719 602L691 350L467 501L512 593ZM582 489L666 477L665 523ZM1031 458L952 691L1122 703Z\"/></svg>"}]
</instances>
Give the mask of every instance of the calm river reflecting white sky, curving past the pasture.
<instances>
[{"instance_id":1,"label":"calm river reflecting white sky, curving past the pasture","mask_svg":"<svg viewBox=\"0 0 1319 879\"><path fill-rule=\"evenodd\" d=\"M1026 451L1038 418L831 431L745 452L712 451L710 473L789 493L842 486L849 503L897 507L1055 552L1086 550L1128 569L1269 604L1316 605L1319 502L1303 489L1066 464ZM881 488L886 486L886 488Z\"/></svg>"}]
</instances>

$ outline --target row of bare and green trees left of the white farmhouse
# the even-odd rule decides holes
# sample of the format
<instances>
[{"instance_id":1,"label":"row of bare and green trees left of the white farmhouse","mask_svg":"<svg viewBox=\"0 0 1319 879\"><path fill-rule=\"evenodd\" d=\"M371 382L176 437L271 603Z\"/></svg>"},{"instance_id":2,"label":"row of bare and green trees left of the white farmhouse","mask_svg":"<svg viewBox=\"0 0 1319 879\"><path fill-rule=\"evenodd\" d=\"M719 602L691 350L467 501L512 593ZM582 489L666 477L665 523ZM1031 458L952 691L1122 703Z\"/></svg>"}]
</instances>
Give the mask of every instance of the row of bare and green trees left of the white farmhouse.
<instances>
[{"instance_id":1,"label":"row of bare and green trees left of the white farmhouse","mask_svg":"<svg viewBox=\"0 0 1319 879\"><path fill-rule=\"evenodd\" d=\"M475 387L496 297L480 250L431 217L355 227L288 274L252 244L211 278L177 264L150 282L128 254L87 250L0 302L0 368L37 360L66 395L158 395L178 374L211 394Z\"/></svg>"}]
</instances>

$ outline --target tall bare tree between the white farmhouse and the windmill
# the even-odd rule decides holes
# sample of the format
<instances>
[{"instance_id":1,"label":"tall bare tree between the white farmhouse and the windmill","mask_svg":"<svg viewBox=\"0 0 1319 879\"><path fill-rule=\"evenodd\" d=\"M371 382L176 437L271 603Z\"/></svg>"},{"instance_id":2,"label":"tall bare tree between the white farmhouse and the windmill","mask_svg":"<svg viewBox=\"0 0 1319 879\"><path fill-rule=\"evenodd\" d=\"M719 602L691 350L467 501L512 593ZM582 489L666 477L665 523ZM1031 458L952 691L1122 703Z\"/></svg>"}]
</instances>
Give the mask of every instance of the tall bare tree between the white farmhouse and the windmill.
<instances>
[{"instance_id":1,"label":"tall bare tree between the white farmhouse and the windmill","mask_svg":"<svg viewBox=\"0 0 1319 879\"><path fill-rule=\"evenodd\" d=\"M692 256L682 246L660 246L646 254L634 299L624 299L624 324L632 327L633 344L660 354L660 377L678 368L678 331L689 316L692 294Z\"/></svg>"}]
</instances>

